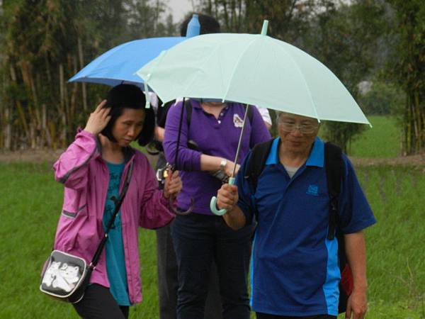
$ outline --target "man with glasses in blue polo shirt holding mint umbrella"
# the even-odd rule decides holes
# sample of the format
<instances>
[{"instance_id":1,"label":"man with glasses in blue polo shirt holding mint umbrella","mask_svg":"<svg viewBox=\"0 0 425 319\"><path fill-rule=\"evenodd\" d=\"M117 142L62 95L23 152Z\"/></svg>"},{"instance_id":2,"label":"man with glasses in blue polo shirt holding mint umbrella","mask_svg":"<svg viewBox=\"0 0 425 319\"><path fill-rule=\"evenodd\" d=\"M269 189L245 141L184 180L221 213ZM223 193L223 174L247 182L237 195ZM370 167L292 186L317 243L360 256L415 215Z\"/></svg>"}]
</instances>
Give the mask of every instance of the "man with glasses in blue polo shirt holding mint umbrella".
<instances>
[{"instance_id":1,"label":"man with glasses in blue polo shirt holding mint umbrella","mask_svg":"<svg viewBox=\"0 0 425 319\"><path fill-rule=\"evenodd\" d=\"M251 308L259 319L338 315L338 242L327 239L329 194L318 131L314 118L279 113L279 137L256 190L244 179L248 155L236 185L225 184L217 194L217 206L227 209L223 218L229 227L239 229L256 215ZM367 309L363 229L375 218L351 162L345 155L343 161L339 220L353 273L346 318L363 319Z\"/></svg>"}]
</instances>

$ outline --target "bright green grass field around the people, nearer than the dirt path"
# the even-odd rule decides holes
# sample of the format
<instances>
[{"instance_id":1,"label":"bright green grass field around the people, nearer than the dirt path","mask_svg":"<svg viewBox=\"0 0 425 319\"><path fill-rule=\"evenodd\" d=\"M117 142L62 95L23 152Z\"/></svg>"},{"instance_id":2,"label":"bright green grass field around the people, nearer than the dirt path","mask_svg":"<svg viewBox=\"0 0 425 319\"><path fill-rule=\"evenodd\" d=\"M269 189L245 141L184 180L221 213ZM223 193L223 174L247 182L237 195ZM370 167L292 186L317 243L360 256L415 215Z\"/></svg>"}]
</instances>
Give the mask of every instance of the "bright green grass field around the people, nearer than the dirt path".
<instances>
[{"instance_id":1,"label":"bright green grass field around the people, nearer than the dirt path","mask_svg":"<svg viewBox=\"0 0 425 319\"><path fill-rule=\"evenodd\" d=\"M377 145L386 147L384 144ZM365 232L369 281L366 318L425 318L425 174L421 169L401 166L356 170L378 219L378 224ZM0 163L0 318L78 318L71 306L38 290L62 194L62 186L53 180L51 164ZM144 301L132 307L130 318L158 318L152 230L140 230L140 258Z\"/></svg>"}]
</instances>

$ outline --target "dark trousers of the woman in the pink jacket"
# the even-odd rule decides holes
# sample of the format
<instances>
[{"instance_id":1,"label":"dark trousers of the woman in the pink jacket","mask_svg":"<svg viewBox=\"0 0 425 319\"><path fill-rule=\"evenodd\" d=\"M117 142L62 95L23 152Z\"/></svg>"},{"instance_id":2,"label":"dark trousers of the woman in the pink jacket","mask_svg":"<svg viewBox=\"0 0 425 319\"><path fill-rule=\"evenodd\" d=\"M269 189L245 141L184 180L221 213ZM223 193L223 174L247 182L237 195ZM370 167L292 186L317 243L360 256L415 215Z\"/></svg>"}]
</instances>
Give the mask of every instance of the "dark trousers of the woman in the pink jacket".
<instances>
[{"instance_id":1,"label":"dark trousers of the woman in the pink jacket","mask_svg":"<svg viewBox=\"0 0 425 319\"><path fill-rule=\"evenodd\" d=\"M98 284L87 286L84 297L74 303L75 310L85 319L127 319L128 306L118 306L109 289Z\"/></svg>"}]
</instances>

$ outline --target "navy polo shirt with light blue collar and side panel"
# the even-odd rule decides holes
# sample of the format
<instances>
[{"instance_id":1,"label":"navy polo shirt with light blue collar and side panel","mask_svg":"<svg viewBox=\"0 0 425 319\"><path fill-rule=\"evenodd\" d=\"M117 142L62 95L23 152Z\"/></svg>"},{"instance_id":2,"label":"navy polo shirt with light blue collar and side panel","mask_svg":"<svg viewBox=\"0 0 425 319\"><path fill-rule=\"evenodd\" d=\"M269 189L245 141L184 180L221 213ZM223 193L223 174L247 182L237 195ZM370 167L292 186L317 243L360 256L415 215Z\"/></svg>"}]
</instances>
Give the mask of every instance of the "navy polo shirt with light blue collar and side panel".
<instances>
[{"instance_id":1,"label":"navy polo shirt with light blue collar and side panel","mask_svg":"<svg viewBox=\"0 0 425 319\"><path fill-rule=\"evenodd\" d=\"M251 222L258 211L251 259L251 307L260 313L338 314L338 242L327 240L329 195L324 143L316 138L305 164L290 178L273 141L255 193L237 175L238 206ZM247 157L249 158L249 156ZM245 172L247 158L239 172ZM375 223L353 166L343 155L339 215L344 233Z\"/></svg>"}]
</instances>

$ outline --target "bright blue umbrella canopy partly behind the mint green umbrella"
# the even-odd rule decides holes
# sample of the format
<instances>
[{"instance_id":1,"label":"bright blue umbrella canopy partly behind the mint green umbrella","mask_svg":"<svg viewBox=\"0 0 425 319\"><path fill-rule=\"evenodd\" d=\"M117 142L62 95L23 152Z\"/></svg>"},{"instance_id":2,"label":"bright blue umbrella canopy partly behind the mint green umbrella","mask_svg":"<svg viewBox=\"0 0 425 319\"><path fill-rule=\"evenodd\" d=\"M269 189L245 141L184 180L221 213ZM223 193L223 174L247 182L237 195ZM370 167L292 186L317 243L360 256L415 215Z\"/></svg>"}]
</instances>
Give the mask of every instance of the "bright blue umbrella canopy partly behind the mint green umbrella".
<instances>
[{"instance_id":1,"label":"bright blue umbrella canopy partly behind the mint green umbrella","mask_svg":"<svg viewBox=\"0 0 425 319\"><path fill-rule=\"evenodd\" d=\"M163 50L183 40L186 40L186 37L147 38L123 43L96 57L69 79L69 82L90 82L109 86L135 84L142 87L143 81L135 75L135 71Z\"/></svg>"}]
</instances>

